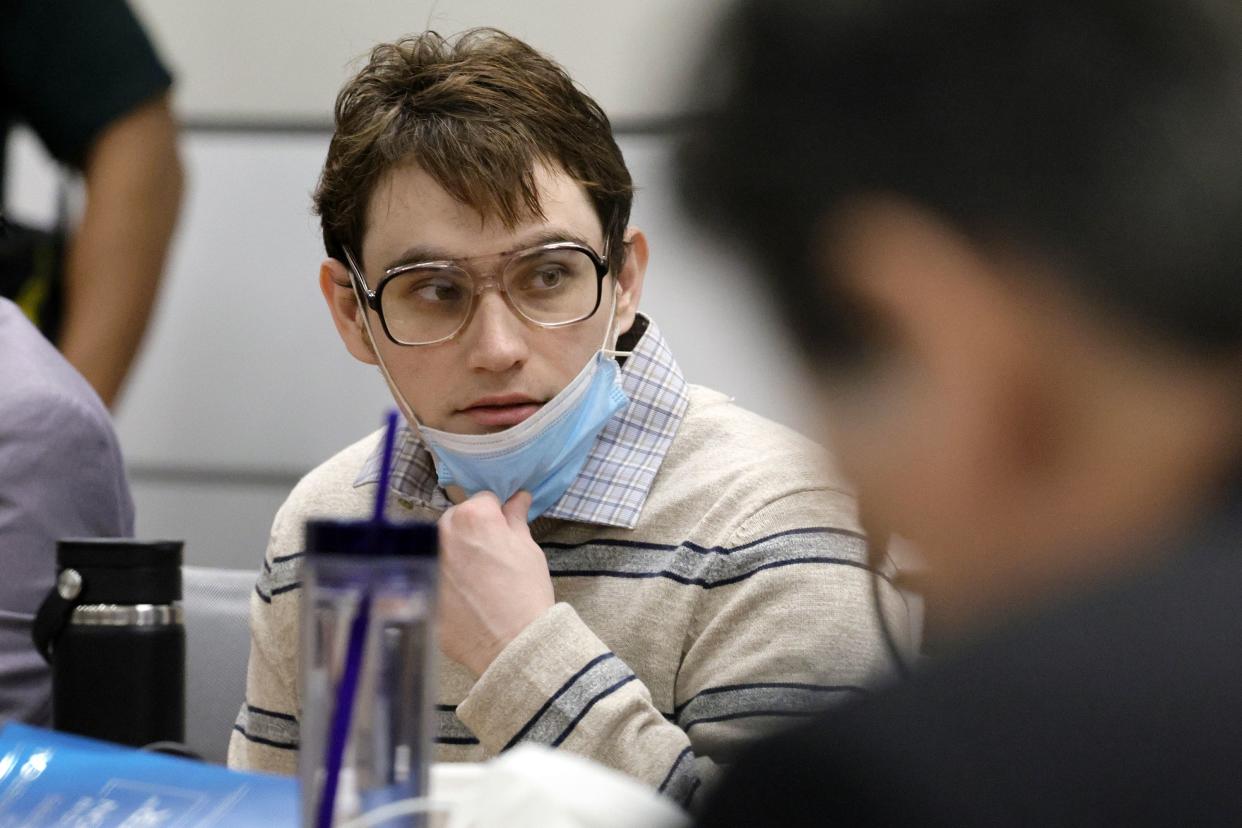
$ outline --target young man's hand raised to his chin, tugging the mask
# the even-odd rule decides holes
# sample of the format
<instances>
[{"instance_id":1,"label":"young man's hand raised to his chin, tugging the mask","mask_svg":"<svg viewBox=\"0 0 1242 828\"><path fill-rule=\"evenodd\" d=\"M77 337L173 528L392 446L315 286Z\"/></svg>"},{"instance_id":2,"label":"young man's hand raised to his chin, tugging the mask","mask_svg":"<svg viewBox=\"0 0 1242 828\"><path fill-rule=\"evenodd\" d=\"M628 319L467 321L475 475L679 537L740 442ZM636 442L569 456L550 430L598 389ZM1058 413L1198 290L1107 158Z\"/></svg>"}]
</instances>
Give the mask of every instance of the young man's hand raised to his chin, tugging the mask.
<instances>
[{"instance_id":1,"label":"young man's hand raised to his chin, tugging the mask","mask_svg":"<svg viewBox=\"0 0 1242 828\"><path fill-rule=\"evenodd\" d=\"M440 518L440 647L474 675L555 603L529 509L528 492L479 492Z\"/></svg>"}]
</instances>

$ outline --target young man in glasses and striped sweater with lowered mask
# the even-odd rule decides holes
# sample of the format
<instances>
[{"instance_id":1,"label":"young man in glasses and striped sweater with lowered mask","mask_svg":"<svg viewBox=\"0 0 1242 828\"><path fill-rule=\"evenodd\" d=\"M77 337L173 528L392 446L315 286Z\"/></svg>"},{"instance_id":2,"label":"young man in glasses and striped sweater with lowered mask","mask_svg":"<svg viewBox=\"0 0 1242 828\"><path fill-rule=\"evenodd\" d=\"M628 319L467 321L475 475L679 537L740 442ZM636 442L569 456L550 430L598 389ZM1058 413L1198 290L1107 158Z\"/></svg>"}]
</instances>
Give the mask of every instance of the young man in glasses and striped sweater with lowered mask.
<instances>
[{"instance_id":1,"label":"young man in glasses and striped sweater with lowered mask","mask_svg":"<svg viewBox=\"0 0 1242 828\"><path fill-rule=\"evenodd\" d=\"M687 385L638 314L631 196L607 118L556 65L491 30L425 34L338 98L319 281L407 420L391 508L438 520L440 757L533 740L688 802L888 653L853 503L814 446ZM302 524L366 514L378 451L344 449L276 518L233 766L296 766Z\"/></svg>"}]
</instances>

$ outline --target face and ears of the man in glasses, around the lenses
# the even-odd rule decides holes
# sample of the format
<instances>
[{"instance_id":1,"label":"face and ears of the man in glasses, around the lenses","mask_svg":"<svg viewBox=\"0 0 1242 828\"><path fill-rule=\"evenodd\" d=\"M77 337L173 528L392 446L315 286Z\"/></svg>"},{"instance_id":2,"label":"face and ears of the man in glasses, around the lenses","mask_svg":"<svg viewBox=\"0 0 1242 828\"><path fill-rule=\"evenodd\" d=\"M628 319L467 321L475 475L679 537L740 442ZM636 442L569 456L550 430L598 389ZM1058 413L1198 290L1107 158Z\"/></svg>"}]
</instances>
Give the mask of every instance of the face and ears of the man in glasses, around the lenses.
<instances>
[{"instance_id":1,"label":"face and ears of the man in glasses, around the lenses","mask_svg":"<svg viewBox=\"0 0 1242 828\"><path fill-rule=\"evenodd\" d=\"M604 233L582 187L559 169L537 169L543 218L515 228L484 218L456 201L415 164L385 175L371 196L360 266L366 284L375 289L385 271L407 263L411 251L421 261L476 257L467 266L482 277L499 277L503 253L522 251L553 240L578 241L604 254ZM565 328L539 328L518 317L496 289L476 298L467 326L448 341L402 346L383 333L370 314L375 348L392 381L420 422L442 431L481 434L522 422L564 389L604 344L617 286L616 320L610 338L628 329L642 282L646 247L641 233L640 254L628 257L622 272L607 276L600 307L590 318ZM635 251L631 251L635 252ZM347 346L359 359L374 362L356 317L348 272L329 259L320 286ZM611 341L609 343L611 346Z\"/></svg>"}]
</instances>

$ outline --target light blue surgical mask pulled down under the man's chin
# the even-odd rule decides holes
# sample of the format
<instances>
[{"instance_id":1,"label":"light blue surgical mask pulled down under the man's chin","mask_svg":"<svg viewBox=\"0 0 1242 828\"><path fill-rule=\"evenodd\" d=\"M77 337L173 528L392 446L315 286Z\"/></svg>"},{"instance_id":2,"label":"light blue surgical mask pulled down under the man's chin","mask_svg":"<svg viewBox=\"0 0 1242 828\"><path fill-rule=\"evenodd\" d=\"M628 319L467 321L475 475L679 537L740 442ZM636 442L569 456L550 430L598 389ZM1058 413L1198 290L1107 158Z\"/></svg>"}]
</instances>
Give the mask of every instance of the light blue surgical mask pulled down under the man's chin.
<instances>
[{"instance_id":1,"label":"light blue surgical mask pulled down under the man's chin","mask_svg":"<svg viewBox=\"0 0 1242 828\"><path fill-rule=\"evenodd\" d=\"M455 434L420 426L419 433L436 458L440 485L492 492L502 502L527 490L528 519L534 520L560 500L604 426L628 402L617 361L601 350L560 394L512 428Z\"/></svg>"}]
</instances>

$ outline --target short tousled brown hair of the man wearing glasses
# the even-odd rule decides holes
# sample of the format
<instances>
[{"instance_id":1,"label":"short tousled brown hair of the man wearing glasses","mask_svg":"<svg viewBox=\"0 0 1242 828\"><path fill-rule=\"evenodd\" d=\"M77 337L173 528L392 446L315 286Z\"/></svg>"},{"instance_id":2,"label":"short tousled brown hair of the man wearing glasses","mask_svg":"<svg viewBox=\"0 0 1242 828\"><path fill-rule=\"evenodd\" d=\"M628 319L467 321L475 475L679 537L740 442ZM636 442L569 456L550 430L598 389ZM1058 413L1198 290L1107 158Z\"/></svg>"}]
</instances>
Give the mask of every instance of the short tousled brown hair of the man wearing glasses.
<instances>
[{"instance_id":1,"label":"short tousled brown hair of the man wearing glasses","mask_svg":"<svg viewBox=\"0 0 1242 828\"><path fill-rule=\"evenodd\" d=\"M559 165L585 190L612 269L633 185L607 115L560 66L494 29L381 43L337 96L337 129L314 209L328 256L361 256L380 178L415 161L451 196L514 227L542 217L534 170Z\"/></svg>"}]
</instances>

